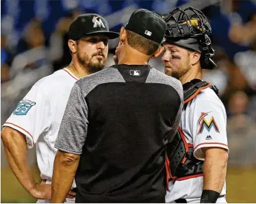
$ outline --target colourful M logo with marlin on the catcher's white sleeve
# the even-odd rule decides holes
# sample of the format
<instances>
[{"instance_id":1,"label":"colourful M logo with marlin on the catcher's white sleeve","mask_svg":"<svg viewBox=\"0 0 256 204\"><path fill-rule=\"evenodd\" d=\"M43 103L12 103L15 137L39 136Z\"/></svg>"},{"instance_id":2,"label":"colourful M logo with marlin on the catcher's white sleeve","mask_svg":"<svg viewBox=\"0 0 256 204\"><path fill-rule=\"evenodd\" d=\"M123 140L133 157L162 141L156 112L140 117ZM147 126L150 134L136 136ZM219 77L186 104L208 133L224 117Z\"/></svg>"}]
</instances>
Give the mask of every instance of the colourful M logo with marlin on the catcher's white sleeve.
<instances>
[{"instance_id":1,"label":"colourful M logo with marlin on the catcher's white sleeve","mask_svg":"<svg viewBox=\"0 0 256 204\"><path fill-rule=\"evenodd\" d=\"M199 121L198 121L199 132L197 132L197 134L201 134L204 129L208 130L208 132L209 132L212 128L214 128L214 130L216 130L216 132L220 132L213 116L211 117L211 119L209 119L209 121L207 121L207 119L205 119L205 116L207 116L209 113L211 113L211 112L201 113L201 116L199 117Z\"/></svg>"}]
</instances>

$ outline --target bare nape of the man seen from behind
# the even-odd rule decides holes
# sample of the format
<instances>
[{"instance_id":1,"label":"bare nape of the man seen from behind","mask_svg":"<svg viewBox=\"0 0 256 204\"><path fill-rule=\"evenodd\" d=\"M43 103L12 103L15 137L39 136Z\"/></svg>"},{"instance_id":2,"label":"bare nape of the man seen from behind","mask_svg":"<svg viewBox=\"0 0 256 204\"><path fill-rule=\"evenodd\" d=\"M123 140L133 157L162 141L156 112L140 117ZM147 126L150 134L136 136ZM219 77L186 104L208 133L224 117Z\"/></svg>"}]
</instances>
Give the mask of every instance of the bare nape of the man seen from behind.
<instances>
[{"instance_id":1,"label":"bare nape of the man seen from behind","mask_svg":"<svg viewBox=\"0 0 256 204\"><path fill-rule=\"evenodd\" d=\"M125 46L122 53L118 56L118 64L128 65L147 65L149 63L149 56L140 53L138 50Z\"/></svg>"}]
</instances>

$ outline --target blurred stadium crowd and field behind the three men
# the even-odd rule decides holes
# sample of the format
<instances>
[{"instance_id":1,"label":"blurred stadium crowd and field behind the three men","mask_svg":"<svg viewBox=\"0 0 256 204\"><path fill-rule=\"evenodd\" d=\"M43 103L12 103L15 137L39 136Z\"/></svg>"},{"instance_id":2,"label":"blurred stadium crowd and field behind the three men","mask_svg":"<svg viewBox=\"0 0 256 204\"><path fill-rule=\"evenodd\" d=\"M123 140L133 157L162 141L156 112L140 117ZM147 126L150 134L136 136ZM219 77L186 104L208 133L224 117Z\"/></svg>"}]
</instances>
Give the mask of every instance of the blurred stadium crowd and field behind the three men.
<instances>
[{"instance_id":1,"label":"blurred stadium crowd and field behind the three men","mask_svg":"<svg viewBox=\"0 0 256 204\"><path fill-rule=\"evenodd\" d=\"M204 70L203 79L218 87L227 110L230 149L227 201L255 203L255 194L235 193L241 189L248 192L246 185L252 179L256 181L255 0L1 0L1 125L36 81L70 63L68 27L77 15L100 14L110 29L118 32L137 8L164 14L188 6L203 10L212 26L218 69ZM117 44L118 40L110 41L107 65L114 63ZM160 57L151 60L151 65L164 72ZM36 166L34 153L29 151L31 166ZM28 197L23 200L23 194L15 200L5 193L12 185L10 181L4 182L12 177L7 166L1 154L2 202L33 201ZM248 183L244 176L250 177ZM243 187L239 187L241 182Z\"/></svg>"}]
</instances>

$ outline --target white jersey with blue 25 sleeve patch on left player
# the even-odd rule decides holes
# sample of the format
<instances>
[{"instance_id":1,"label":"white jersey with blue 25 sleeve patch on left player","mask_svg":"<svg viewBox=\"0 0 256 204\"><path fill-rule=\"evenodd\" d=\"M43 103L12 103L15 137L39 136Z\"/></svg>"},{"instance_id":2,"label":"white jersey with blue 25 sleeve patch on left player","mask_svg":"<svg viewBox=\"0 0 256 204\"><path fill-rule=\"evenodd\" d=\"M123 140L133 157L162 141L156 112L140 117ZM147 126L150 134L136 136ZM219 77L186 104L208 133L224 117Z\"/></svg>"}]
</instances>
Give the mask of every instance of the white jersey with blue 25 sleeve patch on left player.
<instances>
[{"instance_id":1,"label":"white jersey with blue 25 sleeve patch on left player","mask_svg":"<svg viewBox=\"0 0 256 204\"><path fill-rule=\"evenodd\" d=\"M25 134L28 148L36 145L40 177L47 179L47 183L51 183L53 176L57 133L71 89L77 80L66 68L40 79L3 124Z\"/></svg>"}]
</instances>

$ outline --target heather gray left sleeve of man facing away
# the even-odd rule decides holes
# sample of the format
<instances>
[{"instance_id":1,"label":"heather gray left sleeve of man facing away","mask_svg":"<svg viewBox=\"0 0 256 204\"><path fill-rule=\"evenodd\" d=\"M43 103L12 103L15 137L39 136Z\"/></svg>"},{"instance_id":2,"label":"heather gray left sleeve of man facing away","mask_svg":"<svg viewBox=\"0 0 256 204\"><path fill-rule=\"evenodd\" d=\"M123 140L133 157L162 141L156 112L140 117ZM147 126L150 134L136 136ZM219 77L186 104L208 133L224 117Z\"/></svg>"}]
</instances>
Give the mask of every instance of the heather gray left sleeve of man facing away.
<instances>
[{"instance_id":1,"label":"heather gray left sleeve of man facing away","mask_svg":"<svg viewBox=\"0 0 256 204\"><path fill-rule=\"evenodd\" d=\"M80 155L86 141L87 128L88 106L79 85L75 83L66 104L55 148Z\"/></svg>"}]
</instances>

